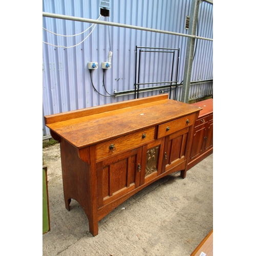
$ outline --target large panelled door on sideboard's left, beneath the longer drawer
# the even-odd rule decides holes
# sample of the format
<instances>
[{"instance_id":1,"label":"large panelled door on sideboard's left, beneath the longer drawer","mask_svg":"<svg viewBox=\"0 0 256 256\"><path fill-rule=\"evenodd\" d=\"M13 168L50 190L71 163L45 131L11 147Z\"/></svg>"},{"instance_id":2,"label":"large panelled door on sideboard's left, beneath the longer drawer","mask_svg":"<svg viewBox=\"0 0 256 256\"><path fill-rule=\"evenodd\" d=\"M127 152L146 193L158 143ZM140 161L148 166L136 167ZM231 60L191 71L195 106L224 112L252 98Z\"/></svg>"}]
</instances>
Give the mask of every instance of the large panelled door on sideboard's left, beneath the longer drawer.
<instances>
[{"instance_id":1,"label":"large panelled door on sideboard's left, beneath the longer drawer","mask_svg":"<svg viewBox=\"0 0 256 256\"><path fill-rule=\"evenodd\" d=\"M98 207L106 205L140 185L142 147L117 154L96 164Z\"/></svg>"}]
</instances>

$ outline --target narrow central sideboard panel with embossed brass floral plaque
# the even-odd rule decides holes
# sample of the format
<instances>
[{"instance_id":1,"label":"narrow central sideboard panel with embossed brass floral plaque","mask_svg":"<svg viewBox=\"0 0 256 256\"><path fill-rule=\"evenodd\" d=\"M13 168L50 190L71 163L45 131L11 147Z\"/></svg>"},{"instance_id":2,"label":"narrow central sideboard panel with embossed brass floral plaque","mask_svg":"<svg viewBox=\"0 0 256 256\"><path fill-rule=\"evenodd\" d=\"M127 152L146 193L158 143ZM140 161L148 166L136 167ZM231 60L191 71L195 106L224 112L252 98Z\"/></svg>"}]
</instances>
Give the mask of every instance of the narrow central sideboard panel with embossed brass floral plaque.
<instances>
[{"instance_id":1,"label":"narrow central sideboard panel with embossed brass floral plaque","mask_svg":"<svg viewBox=\"0 0 256 256\"><path fill-rule=\"evenodd\" d=\"M142 147L140 185L161 174L164 138L155 140Z\"/></svg>"}]
</instances>

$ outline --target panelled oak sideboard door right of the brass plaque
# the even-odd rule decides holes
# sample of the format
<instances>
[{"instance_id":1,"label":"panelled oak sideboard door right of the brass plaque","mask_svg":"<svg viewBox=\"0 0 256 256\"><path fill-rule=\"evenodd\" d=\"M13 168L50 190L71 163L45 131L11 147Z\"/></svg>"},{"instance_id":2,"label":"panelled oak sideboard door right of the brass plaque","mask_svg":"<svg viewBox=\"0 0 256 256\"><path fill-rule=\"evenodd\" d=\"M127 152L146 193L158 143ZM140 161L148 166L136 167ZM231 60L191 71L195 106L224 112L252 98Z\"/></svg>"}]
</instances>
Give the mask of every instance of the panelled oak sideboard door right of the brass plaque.
<instances>
[{"instance_id":1,"label":"panelled oak sideboard door right of the brass plaque","mask_svg":"<svg viewBox=\"0 0 256 256\"><path fill-rule=\"evenodd\" d=\"M165 137L162 173L186 160L189 129Z\"/></svg>"}]
</instances>

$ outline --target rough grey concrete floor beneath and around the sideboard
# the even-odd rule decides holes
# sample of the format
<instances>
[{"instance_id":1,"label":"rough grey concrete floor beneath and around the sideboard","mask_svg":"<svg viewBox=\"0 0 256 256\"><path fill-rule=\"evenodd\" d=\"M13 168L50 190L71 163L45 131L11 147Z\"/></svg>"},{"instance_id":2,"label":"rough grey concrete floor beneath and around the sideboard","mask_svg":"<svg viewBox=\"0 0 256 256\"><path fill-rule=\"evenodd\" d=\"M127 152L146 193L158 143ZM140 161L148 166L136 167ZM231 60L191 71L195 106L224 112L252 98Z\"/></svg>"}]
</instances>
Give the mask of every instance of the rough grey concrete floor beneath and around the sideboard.
<instances>
[{"instance_id":1,"label":"rough grey concrete floor beneath and around the sideboard","mask_svg":"<svg viewBox=\"0 0 256 256\"><path fill-rule=\"evenodd\" d=\"M63 200L59 144L43 150L48 167L51 230L42 235L42 255L186 256L213 228L213 154L188 170L139 191L89 232L86 214Z\"/></svg>"}]
</instances>

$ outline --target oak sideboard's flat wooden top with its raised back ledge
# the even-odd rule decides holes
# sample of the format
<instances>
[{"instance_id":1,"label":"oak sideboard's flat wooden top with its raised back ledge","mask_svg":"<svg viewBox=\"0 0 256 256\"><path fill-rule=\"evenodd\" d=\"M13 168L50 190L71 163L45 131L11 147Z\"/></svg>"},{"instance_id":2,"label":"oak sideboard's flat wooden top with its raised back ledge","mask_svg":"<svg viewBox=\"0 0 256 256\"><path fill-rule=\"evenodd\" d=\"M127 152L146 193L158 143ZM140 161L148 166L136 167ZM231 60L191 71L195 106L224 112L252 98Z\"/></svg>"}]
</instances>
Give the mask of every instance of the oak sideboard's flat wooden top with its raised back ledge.
<instances>
[{"instance_id":1,"label":"oak sideboard's flat wooden top with its raised back ledge","mask_svg":"<svg viewBox=\"0 0 256 256\"><path fill-rule=\"evenodd\" d=\"M82 148L200 110L164 94L45 116L45 123L54 133Z\"/></svg>"}]
</instances>

